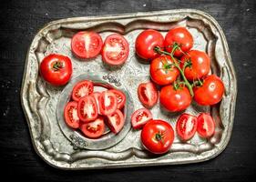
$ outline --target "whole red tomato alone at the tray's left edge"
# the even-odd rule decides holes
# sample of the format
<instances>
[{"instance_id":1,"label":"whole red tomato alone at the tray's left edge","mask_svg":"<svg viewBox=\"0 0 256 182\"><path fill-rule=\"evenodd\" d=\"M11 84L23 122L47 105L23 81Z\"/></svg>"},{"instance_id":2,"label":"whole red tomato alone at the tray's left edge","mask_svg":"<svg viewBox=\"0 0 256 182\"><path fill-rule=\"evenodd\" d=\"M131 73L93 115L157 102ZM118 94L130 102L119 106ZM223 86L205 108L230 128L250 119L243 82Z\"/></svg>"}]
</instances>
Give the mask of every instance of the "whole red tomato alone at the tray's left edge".
<instances>
[{"instance_id":1,"label":"whole red tomato alone at the tray's left edge","mask_svg":"<svg viewBox=\"0 0 256 182\"><path fill-rule=\"evenodd\" d=\"M72 63L69 57L51 54L40 64L41 76L53 86L64 86L72 75Z\"/></svg>"}]
</instances>

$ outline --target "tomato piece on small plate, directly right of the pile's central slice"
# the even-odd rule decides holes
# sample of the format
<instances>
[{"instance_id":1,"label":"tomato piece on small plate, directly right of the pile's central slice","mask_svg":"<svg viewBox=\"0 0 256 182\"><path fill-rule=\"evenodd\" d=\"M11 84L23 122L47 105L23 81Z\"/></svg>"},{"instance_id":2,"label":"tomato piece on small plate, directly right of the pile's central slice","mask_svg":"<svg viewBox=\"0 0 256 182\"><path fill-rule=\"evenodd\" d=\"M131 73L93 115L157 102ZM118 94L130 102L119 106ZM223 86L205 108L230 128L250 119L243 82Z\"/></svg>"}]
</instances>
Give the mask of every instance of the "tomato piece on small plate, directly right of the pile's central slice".
<instances>
[{"instance_id":1,"label":"tomato piece on small plate, directly right of the pile's central slice","mask_svg":"<svg viewBox=\"0 0 256 182\"><path fill-rule=\"evenodd\" d=\"M98 104L102 115L112 115L118 108L118 99L113 92L107 90L99 96Z\"/></svg>"}]
</instances>

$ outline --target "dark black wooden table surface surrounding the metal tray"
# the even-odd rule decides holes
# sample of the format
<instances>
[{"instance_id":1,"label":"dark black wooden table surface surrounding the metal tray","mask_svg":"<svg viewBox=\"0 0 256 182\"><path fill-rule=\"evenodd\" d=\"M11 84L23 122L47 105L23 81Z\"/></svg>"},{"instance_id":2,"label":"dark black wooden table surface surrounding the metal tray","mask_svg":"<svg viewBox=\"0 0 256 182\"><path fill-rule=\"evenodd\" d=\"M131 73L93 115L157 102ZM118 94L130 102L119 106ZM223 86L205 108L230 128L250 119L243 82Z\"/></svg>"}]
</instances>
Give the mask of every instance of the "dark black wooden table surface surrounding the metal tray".
<instances>
[{"instance_id":1,"label":"dark black wooden table surface surrounding the metal tray","mask_svg":"<svg viewBox=\"0 0 256 182\"><path fill-rule=\"evenodd\" d=\"M256 3L251 0L12 1L0 11L0 164L4 177L47 181L247 181L256 172ZM215 17L227 36L238 78L233 133L220 156L200 164L64 171L32 146L20 104L26 51L46 23L71 16L196 8ZM2 176L3 177L3 176Z\"/></svg>"}]
</instances>

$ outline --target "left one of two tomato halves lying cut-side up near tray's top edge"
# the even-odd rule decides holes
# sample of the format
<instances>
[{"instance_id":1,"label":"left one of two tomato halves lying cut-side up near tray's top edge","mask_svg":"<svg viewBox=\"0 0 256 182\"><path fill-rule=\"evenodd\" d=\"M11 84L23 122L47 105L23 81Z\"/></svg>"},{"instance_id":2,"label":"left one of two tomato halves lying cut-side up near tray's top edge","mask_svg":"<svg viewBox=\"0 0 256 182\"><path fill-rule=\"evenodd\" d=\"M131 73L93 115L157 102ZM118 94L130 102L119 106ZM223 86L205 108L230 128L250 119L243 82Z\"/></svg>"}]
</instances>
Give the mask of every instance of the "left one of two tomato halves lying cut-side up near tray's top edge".
<instances>
[{"instance_id":1,"label":"left one of two tomato halves lying cut-side up near tray's top edge","mask_svg":"<svg viewBox=\"0 0 256 182\"><path fill-rule=\"evenodd\" d=\"M102 48L102 39L95 32L82 31L72 37L72 52L79 58L92 58L97 56Z\"/></svg>"}]
</instances>

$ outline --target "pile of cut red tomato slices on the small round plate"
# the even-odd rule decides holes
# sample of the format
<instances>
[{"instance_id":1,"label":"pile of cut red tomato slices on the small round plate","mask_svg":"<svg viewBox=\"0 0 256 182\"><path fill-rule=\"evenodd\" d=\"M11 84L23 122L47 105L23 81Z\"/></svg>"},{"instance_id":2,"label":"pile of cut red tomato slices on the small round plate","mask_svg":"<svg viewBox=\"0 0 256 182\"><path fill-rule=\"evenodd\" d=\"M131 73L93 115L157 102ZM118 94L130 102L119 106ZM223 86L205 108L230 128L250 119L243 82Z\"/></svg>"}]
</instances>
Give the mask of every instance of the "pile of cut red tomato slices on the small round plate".
<instances>
[{"instance_id":1,"label":"pile of cut red tomato slices on the small round plate","mask_svg":"<svg viewBox=\"0 0 256 182\"><path fill-rule=\"evenodd\" d=\"M106 131L106 125L118 134L125 124L126 95L118 89L94 91L97 83L83 80L73 87L71 99L65 106L67 126L80 129L89 138L98 138Z\"/></svg>"}]
</instances>

